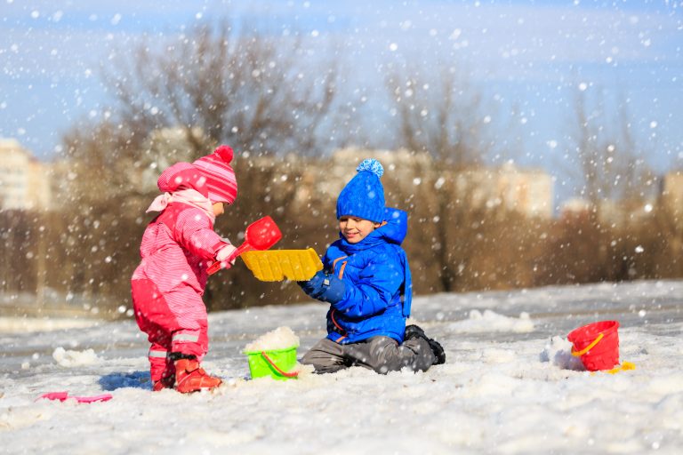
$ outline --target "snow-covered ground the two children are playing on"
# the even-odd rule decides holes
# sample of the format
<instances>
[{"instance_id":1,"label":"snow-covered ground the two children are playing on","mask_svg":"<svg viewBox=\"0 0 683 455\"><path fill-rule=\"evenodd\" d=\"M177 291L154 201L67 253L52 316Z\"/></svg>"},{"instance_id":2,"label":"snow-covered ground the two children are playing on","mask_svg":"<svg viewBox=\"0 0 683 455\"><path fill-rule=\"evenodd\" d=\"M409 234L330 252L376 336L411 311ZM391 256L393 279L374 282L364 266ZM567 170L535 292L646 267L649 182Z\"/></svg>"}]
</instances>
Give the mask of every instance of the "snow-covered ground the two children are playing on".
<instances>
[{"instance_id":1,"label":"snow-covered ground the two children are playing on","mask_svg":"<svg viewBox=\"0 0 683 455\"><path fill-rule=\"evenodd\" d=\"M152 393L147 343L133 321L64 329L0 326L0 453L680 453L683 282L440 294L414 322L446 347L425 373L360 368L248 380L242 350L290 327L299 356L324 335L325 306L210 316L213 394ZM581 371L566 334L621 323L622 361ZM18 322L21 324L22 322ZM12 330L20 327L21 330ZM23 328L22 328L23 327ZM33 328L38 331L30 331ZM52 329L52 330L48 330ZM37 400L110 393L106 403Z\"/></svg>"}]
</instances>

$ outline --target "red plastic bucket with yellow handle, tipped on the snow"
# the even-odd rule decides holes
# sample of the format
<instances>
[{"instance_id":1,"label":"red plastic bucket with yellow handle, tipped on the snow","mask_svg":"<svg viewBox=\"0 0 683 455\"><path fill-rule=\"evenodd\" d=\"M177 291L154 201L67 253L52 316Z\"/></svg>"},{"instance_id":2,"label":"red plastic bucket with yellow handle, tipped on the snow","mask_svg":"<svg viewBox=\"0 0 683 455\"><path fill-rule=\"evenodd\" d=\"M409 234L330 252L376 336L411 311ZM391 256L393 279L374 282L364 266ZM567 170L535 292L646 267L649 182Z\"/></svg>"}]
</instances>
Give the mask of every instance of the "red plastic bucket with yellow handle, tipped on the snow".
<instances>
[{"instance_id":1,"label":"red plastic bucket with yellow handle, tipped on the snow","mask_svg":"<svg viewBox=\"0 0 683 455\"><path fill-rule=\"evenodd\" d=\"M581 358L588 371L610 370L619 363L618 321L590 323L566 336L574 346L572 355Z\"/></svg>"}]
</instances>

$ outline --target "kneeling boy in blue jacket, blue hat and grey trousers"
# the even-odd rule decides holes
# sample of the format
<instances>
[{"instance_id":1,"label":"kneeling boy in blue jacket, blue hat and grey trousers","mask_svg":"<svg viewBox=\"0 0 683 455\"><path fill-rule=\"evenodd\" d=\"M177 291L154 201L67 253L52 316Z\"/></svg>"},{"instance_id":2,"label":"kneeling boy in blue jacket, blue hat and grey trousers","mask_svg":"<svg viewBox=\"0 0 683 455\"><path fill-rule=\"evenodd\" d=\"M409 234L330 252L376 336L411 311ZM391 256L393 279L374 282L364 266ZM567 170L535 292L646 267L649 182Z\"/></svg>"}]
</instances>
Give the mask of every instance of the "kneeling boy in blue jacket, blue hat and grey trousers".
<instances>
[{"instance_id":1,"label":"kneeling boy in blue jacket, blue hat and grey trousers","mask_svg":"<svg viewBox=\"0 0 683 455\"><path fill-rule=\"evenodd\" d=\"M385 208L377 160L365 160L337 199L340 239L325 251L324 268L301 289L330 303L327 337L301 363L316 372L362 366L379 373L427 371L445 363L444 349L416 325L406 327L412 283L406 251L407 214Z\"/></svg>"}]
</instances>

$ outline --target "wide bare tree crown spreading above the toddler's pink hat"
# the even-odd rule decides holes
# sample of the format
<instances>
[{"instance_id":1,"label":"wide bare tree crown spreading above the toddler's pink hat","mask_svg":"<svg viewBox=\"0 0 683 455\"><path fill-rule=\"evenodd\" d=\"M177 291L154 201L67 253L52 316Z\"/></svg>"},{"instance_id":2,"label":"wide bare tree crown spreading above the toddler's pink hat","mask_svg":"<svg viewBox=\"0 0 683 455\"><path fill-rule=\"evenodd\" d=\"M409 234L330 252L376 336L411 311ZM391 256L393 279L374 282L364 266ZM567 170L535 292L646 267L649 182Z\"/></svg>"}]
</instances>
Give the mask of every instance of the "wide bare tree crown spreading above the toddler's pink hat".
<instances>
[{"instance_id":1,"label":"wide bare tree crown spreading above the toddler's pink hat","mask_svg":"<svg viewBox=\"0 0 683 455\"><path fill-rule=\"evenodd\" d=\"M296 36L256 30L221 20L121 53L104 74L122 123L143 136L181 128L195 156L219 142L257 155L317 151L336 93L334 60L307 58Z\"/></svg>"}]
</instances>

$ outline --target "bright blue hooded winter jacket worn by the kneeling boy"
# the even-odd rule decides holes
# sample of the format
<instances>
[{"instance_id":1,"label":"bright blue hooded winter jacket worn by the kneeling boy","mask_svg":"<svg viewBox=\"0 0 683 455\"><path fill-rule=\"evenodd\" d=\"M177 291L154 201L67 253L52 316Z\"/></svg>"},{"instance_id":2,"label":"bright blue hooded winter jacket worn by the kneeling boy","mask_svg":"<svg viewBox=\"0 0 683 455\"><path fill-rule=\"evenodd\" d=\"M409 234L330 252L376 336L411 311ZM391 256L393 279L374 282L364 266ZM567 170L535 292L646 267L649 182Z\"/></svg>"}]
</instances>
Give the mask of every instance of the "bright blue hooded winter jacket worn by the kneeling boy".
<instances>
[{"instance_id":1,"label":"bright blue hooded winter jacket worn by the kneeling boy","mask_svg":"<svg viewBox=\"0 0 683 455\"><path fill-rule=\"evenodd\" d=\"M408 216L385 210L384 224L359 243L343 237L325 251L325 271L342 278L344 296L327 312L327 338L341 344L383 335L403 342L413 284L401 243Z\"/></svg>"}]
</instances>

